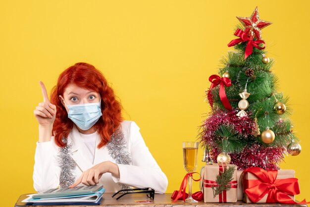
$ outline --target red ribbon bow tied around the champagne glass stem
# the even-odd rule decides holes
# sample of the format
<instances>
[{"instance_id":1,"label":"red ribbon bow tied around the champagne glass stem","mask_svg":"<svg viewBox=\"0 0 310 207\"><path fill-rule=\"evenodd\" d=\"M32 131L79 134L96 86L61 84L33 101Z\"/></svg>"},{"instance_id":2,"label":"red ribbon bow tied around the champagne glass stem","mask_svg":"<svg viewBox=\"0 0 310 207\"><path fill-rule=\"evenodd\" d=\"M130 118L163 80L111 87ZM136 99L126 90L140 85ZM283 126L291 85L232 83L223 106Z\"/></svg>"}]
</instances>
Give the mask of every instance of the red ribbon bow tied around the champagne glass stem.
<instances>
[{"instance_id":1,"label":"red ribbon bow tied around the champagne glass stem","mask_svg":"<svg viewBox=\"0 0 310 207\"><path fill-rule=\"evenodd\" d=\"M177 200L181 200L181 199L185 202L185 199L188 197L188 194L185 193L188 177L193 176L193 174L195 174L195 173L199 174L198 172L191 172L191 173L187 173L184 176L183 181L182 181L181 186L180 186L180 190L174 191L172 196L171 196L171 199L173 199L172 203L176 202ZM200 181L200 179L201 178L195 180L193 178L193 180L195 180L195 181ZM204 194L203 194L203 192L198 191L198 192L192 194L192 198L195 199L196 201L201 201L204 198Z\"/></svg>"}]
</instances>

